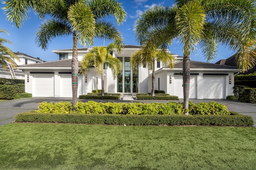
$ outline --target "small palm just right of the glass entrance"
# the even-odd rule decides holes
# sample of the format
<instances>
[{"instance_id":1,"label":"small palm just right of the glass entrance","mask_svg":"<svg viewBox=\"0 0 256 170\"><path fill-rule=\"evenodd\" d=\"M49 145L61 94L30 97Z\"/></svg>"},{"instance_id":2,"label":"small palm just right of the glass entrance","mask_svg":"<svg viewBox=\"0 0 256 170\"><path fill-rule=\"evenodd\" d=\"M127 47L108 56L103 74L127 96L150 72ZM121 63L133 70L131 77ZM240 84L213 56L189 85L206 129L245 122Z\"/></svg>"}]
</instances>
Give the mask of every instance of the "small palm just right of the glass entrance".
<instances>
[{"instance_id":1,"label":"small palm just right of the glass entrance","mask_svg":"<svg viewBox=\"0 0 256 170\"><path fill-rule=\"evenodd\" d=\"M132 71L138 72L139 65L145 65L148 69L152 70L152 96L155 95L155 62L162 61L162 65L168 65L173 67L174 58L166 49L156 49L151 47L151 50L142 47L140 50L132 53L130 62L132 65Z\"/></svg>"}]
</instances>

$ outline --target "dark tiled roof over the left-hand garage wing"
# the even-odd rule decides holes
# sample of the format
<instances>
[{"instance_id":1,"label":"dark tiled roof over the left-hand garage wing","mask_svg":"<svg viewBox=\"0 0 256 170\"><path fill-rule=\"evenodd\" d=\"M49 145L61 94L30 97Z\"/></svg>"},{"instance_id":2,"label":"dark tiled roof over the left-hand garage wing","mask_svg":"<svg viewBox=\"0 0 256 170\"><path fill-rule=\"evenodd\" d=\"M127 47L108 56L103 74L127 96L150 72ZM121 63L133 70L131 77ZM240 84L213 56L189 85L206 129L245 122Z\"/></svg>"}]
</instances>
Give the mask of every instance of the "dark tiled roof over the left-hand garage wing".
<instances>
[{"instance_id":1,"label":"dark tiled roof over the left-hand garage wing","mask_svg":"<svg viewBox=\"0 0 256 170\"><path fill-rule=\"evenodd\" d=\"M19 65L18 67L71 67L72 59L64 59L64 60L57 60L57 61L48 61L44 63L33 63L33 64L26 64L26 65ZM78 67L81 66L80 61L78 61Z\"/></svg>"}]
</instances>

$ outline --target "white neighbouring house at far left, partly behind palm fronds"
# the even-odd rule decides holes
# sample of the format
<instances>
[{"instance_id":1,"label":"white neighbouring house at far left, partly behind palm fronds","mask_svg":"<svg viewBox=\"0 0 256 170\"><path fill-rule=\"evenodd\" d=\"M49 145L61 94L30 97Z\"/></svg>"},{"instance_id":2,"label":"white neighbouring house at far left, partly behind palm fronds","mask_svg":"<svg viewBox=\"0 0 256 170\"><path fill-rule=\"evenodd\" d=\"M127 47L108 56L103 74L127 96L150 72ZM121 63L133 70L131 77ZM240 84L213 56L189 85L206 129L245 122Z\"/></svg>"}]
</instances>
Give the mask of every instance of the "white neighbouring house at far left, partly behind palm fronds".
<instances>
[{"instance_id":1,"label":"white neighbouring house at far left, partly behind palm fronds","mask_svg":"<svg viewBox=\"0 0 256 170\"><path fill-rule=\"evenodd\" d=\"M17 52L15 53L17 55L17 57L20 59L20 61L18 61L17 59L14 59L14 62L17 65L25 65L25 64L31 64L31 63L42 63L44 62L42 59L40 59L39 57L35 58L32 57L30 55L24 54L24 53L20 53ZM4 55L3 56L9 57L9 55ZM12 77L12 73L11 73L12 69L10 69L10 67L8 67L8 70L0 67L0 78L6 78L6 79L12 79L14 77ZM20 70L20 69L14 69L14 76L16 79L25 79L25 73L24 71Z\"/></svg>"}]
</instances>

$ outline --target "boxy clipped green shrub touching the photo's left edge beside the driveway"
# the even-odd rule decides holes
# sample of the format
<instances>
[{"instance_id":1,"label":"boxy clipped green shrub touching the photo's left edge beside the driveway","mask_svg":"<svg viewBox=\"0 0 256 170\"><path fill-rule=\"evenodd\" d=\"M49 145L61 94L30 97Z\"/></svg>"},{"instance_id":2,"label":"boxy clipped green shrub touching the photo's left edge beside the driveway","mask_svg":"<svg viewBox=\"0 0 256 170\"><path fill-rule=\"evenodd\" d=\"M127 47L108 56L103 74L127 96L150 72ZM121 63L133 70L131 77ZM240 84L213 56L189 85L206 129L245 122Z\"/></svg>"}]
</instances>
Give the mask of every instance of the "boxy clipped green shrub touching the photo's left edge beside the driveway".
<instances>
[{"instance_id":1,"label":"boxy clipped green shrub touching the photo's left edge beside the driveway","mask_svg":"<svg viewBox=\"0 0 256 170\"><path fill-rule=\"evenodd\" d=\"M16 93L14 85L0 85L0 99L17 99Z\"/></svg>"}]
</instances>

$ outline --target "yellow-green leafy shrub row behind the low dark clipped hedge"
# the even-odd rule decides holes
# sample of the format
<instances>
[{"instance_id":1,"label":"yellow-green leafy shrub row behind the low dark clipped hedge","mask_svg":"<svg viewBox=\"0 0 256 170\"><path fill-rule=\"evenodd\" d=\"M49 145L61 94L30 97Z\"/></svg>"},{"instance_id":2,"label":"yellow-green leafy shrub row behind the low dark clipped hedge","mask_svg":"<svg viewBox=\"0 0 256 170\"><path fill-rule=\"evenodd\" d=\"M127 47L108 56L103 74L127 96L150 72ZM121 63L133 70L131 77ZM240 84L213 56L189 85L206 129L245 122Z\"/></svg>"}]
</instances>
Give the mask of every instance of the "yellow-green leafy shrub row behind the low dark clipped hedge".
<instances>
[{"instance_id":1,"label":"yellow-green leafy shrub row behind the low dark clipped hedge","mask_svg":"<svg viewBox=\"0 0 256 170\"><path fill-rule=\"evenodd\" d=\"M77 113L83 114L127 114L127 115L183 115L184 106L181 102L168 103L98 103L95 101L77 102L74 106ZM194 104L189 102L191 115L230 115L225 105L216 102ZM38 103L38 113L71 113L70 102Z\"/></svg>"}]
</instances>

